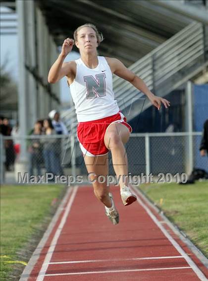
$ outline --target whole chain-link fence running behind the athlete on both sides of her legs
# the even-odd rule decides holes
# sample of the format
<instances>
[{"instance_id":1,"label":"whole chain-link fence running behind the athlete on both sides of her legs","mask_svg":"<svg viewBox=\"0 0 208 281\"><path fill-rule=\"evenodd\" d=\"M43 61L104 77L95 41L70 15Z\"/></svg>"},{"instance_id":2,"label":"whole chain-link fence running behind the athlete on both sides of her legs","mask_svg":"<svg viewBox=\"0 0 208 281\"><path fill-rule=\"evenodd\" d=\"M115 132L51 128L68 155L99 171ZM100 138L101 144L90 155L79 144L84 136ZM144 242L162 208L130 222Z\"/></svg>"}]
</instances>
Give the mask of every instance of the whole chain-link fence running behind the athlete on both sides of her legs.
<instances>
[{"instance_id":1,"label":"whole chain-link fence running behind the athlete on both sides of her legs","mask_svg":"<svg viewBox=\"0 0 208 281\"><path fill-rule=\"evenodd\" d=\"M201 157L199 146L202 133L131 134L126 146L129 173L190 174L194 167L208 171L208 157ZM76 136L4 137L1 135L0 177L3 184L18 183L21 174L40 176L87 175L84 158ZM115 175L111 153L109 174ZM25 179L27 179L25 176Z\"/></svg>"}]
</instances>

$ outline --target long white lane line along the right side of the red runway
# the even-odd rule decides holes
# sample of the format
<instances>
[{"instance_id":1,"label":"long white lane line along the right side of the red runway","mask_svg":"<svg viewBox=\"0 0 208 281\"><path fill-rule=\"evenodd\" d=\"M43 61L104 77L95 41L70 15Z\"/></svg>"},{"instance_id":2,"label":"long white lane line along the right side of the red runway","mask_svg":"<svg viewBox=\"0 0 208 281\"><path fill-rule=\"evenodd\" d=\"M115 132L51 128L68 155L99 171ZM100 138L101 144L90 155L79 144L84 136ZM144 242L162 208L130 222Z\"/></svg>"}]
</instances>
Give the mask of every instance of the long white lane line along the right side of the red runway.
<instances>
[{"instance_id":1,"label":"long white lane line along the right side of the red runway","mask_svg":"<svg viewBox=\"0 0 208 281\"><path fill-rule=\"evenodd\" d=\"M152 218L152 220L156 223L157 227L162 231L162 233L167 237L167 239L171 242L171 244L176 248L176 250L185 258L187 263L190 265L192 270L196 273L196 275L199 277L201 281L207 281L207 277L204 275L204 273L197 267L197 265L194 263L194 261L187 255L187 253L181 248L181 246L174 240L174 238L166 231L166 229L160 224L156 216L152 213L152 211L149 209L148 206L146 206L142 200L140 199L139 191L132 187L134 191L139 195L137 198L138 204L140 204L148 213L148 215Z\"/></svg>"}]
</instances>

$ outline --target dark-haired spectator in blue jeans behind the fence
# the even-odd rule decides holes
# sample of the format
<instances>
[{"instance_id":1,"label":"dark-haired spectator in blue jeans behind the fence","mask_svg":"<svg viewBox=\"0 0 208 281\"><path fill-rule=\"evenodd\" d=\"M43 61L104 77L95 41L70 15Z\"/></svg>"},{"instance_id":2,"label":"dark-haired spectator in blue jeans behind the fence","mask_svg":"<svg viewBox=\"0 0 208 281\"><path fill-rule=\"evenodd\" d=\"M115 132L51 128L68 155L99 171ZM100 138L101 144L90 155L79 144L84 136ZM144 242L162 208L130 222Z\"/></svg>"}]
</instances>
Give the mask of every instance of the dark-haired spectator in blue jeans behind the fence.
<instances>
[{"instance_id":1,"label":"dark-haired spectator in blue jeans behind the fence","mask_svg":"<svg viewBox=\"0 0 208 281\"><path fill-rule=\"evenodd\" d=\"M44 120L45 134L52 136L51 138L44 138L43 142L43 154L46 165L46 172L53 175L61 175L62 168L60 166L59 155L59 142L55 138L56 132L53 128L51 119ZM54 137L53 137L54 136Z\"/></svg>"}]
</instances>

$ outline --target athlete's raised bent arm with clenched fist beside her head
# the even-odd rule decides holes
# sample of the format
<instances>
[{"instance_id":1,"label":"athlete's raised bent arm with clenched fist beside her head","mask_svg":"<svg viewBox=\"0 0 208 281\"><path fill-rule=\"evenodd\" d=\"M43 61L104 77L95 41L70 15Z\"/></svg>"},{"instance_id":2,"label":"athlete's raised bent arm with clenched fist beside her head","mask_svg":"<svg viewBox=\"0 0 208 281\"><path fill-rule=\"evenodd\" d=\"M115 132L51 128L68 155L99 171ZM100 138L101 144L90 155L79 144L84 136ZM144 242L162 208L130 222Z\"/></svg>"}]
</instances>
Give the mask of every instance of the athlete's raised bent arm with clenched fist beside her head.
<instances>
[{"instance_id":1,"label":"athlete's raised bent arm with clenched fist beside her head","mask_svg":"<svg viewBox=\"0 0 208 281\"><path fill-rule=\"evenodd\" d=\"M65 75L70 76L71 72L71 63L70 62L63 62L67 54L72 50L74 45L74 40L67 38L64 40L61 53L59 54L56 61L53 63L49 75L48 75L48 82L49 83L56 83Z\"/></svg>"}]
</instances>

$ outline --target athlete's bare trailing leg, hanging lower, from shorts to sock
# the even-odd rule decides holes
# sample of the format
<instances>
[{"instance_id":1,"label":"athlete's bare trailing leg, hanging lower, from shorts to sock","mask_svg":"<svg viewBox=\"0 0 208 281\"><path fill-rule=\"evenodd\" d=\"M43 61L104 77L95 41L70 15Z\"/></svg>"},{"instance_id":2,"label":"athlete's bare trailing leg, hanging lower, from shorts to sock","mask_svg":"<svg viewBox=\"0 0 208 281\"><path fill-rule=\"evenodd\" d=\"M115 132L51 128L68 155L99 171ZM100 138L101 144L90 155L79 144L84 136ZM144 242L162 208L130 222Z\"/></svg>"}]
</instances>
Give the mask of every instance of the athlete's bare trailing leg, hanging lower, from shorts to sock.
<instances>
[{"instance_id":1,"label":"athlete's bare trailing leg, hanging lower, from shorts to sock","mask_svg":"<svg viewBox=\"0 0 208 281\"><path fill-rule=\"evenodd\" d=\"M102 175L105 177L108 175L108 154L103 156L84 156L84 161L88 173L94 173L90 175L90 180L95 182L93 183L94 193L96 197L104 203L108 208L112 206L112 201L109 197L109 187L106 186L106 182L103 184L98 182L98 176Z\"/></svg>"}]
</instances>

